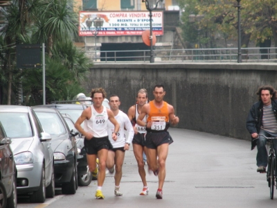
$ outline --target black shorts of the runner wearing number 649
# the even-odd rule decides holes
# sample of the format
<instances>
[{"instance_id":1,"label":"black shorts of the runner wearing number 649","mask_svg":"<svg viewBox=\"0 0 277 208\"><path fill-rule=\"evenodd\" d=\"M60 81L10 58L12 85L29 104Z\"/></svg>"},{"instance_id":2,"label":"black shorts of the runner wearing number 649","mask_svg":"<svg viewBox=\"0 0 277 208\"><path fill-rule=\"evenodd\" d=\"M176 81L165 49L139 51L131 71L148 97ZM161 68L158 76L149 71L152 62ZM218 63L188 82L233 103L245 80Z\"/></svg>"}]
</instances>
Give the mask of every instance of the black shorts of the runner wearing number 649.
<instances>
[{"instance_id":1,"label":"black shorts of the runner wearing number 649","mask_svg":"<svg viewBox=\"0 0 277 208\"><path fill-rule=\"evenodd\" d=\"M87 140L84 138L84 148L87 152L87 155L97 155L99 150L109 150L112 147L113 146L109 141L109 137L93 137L91 140Z\"/></svg>"}]
</instances>

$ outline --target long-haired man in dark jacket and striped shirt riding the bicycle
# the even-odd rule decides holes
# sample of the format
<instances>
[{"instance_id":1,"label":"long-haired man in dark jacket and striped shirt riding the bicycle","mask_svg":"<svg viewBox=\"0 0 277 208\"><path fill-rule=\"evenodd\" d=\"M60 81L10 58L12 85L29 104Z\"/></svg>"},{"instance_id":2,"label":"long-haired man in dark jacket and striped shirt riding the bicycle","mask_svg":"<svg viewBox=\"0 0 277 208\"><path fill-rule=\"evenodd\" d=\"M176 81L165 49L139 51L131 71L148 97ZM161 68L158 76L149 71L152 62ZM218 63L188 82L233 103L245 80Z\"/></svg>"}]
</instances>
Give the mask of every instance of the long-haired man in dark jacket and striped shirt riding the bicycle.
<instances>
[{"instance_id":1,"label":"long-haired man in dark jacket and striped shirt riding the bicycle","mask_svg":"<svg viewBox=\"0 0 277 208\"><path fill-rule=\"evenodd\" d=\"M265 173L267 167L267 139L277 137L277 92L274 87L262 86L256 92L258 102L254 103L247 116L247 130L251 134L251 150L257 146L257 172ZM277 141L274 139L274 150Z\"/></svg>"}]
</instances>

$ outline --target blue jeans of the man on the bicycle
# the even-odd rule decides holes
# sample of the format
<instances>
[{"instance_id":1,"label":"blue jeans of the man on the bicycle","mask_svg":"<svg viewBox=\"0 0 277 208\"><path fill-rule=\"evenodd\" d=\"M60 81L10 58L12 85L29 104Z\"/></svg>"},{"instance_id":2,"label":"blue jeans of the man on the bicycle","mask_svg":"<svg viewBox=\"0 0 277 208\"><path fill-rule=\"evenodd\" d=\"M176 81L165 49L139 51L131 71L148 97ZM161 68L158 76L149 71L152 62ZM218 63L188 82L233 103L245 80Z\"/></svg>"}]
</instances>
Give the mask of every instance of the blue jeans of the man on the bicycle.
<instances>
[{"instance_id":1,"label":"blue jeans of the man on the bicycle","mask_svg":"<svg viewBox=\"0 0 277 208\"><path fill-rule=\"evenodd\" d=\"M277 134L272 134L269 132L266 132L265 130L260 130L259 132L259 139L257 140L257 148L258 148L258 153L257 153L257 166L267 166L267 139L265 137L277 137ZM274 150L275 153L277 153L277 139L274 139Z\"/></svg>"}]
</instances>

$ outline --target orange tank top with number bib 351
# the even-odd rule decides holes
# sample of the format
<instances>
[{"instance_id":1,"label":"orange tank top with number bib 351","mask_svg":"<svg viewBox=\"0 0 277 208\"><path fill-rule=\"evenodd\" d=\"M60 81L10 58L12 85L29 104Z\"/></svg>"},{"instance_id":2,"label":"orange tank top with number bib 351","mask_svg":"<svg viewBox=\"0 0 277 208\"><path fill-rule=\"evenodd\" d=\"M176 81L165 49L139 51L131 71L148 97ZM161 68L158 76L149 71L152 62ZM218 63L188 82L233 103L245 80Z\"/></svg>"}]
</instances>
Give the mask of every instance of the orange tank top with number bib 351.
<instances>
[{"instance_id":1,"label":"orange tank top with number bib 351","mask_svg":"<svg viewBox=\"0 0 277 208\"><path fill-rule=\"evenodd\" d=\"M149 105L150 112L147 121L153 121L151 130L167 130L169 127L168 103L163 101L163 107L161 108L156 107L154 101L150 101Z\"/></svg>"}]
</instances>

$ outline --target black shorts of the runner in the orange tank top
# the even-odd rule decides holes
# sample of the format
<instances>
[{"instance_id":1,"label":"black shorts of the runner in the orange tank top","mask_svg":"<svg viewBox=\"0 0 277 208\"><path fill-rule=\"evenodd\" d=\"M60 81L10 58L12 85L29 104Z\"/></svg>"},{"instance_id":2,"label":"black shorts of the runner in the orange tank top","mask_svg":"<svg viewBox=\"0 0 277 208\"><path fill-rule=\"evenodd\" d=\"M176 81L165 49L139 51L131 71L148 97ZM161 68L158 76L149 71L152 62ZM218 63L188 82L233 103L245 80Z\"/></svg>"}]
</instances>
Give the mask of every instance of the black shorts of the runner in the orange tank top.
<instances>
[{"instance_id":1,"label":"black shorts of the runner in the orange tank top","mask_svg":"<svg viewBox=\"0 0 277 208\"><path fill-rule=\"evenodd\" d=\"M168 131L148 131L145 135L145 146L150 149L157 149L157 146L160 146L161 144L171 144L172 142L173 139Z\"/></svg>"}]
</instances>

